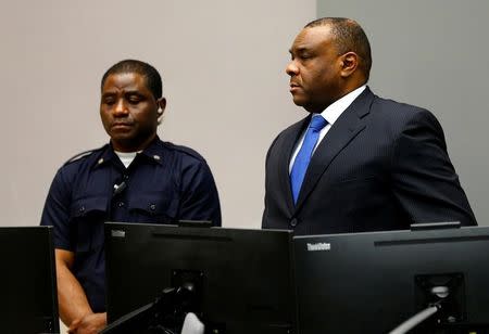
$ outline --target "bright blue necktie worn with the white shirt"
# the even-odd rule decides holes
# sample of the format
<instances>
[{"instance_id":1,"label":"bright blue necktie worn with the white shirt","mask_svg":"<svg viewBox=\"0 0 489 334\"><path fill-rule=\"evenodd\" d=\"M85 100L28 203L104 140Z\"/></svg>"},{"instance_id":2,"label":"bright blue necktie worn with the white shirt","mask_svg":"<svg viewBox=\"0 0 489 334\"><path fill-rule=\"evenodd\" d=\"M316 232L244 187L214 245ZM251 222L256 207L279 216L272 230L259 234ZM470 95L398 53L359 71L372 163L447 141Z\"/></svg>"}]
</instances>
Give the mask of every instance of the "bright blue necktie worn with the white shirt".
<instances>
[{"instance_id":1,"label":"bright blue necktie worn with the white shirt","mask_svg":"<svg viewBox=\"0 0 489 334\"><path fill-rule=\"evenodd\" d=\"M321 115L314 115L302 142L302 147L296 156L292 170L290 171L290 184L292 185L293 203L297 203L302 181L308 170L309 162L319 138L319 131L327 125L326 119Z\"/></svg>"}]
</instances>

